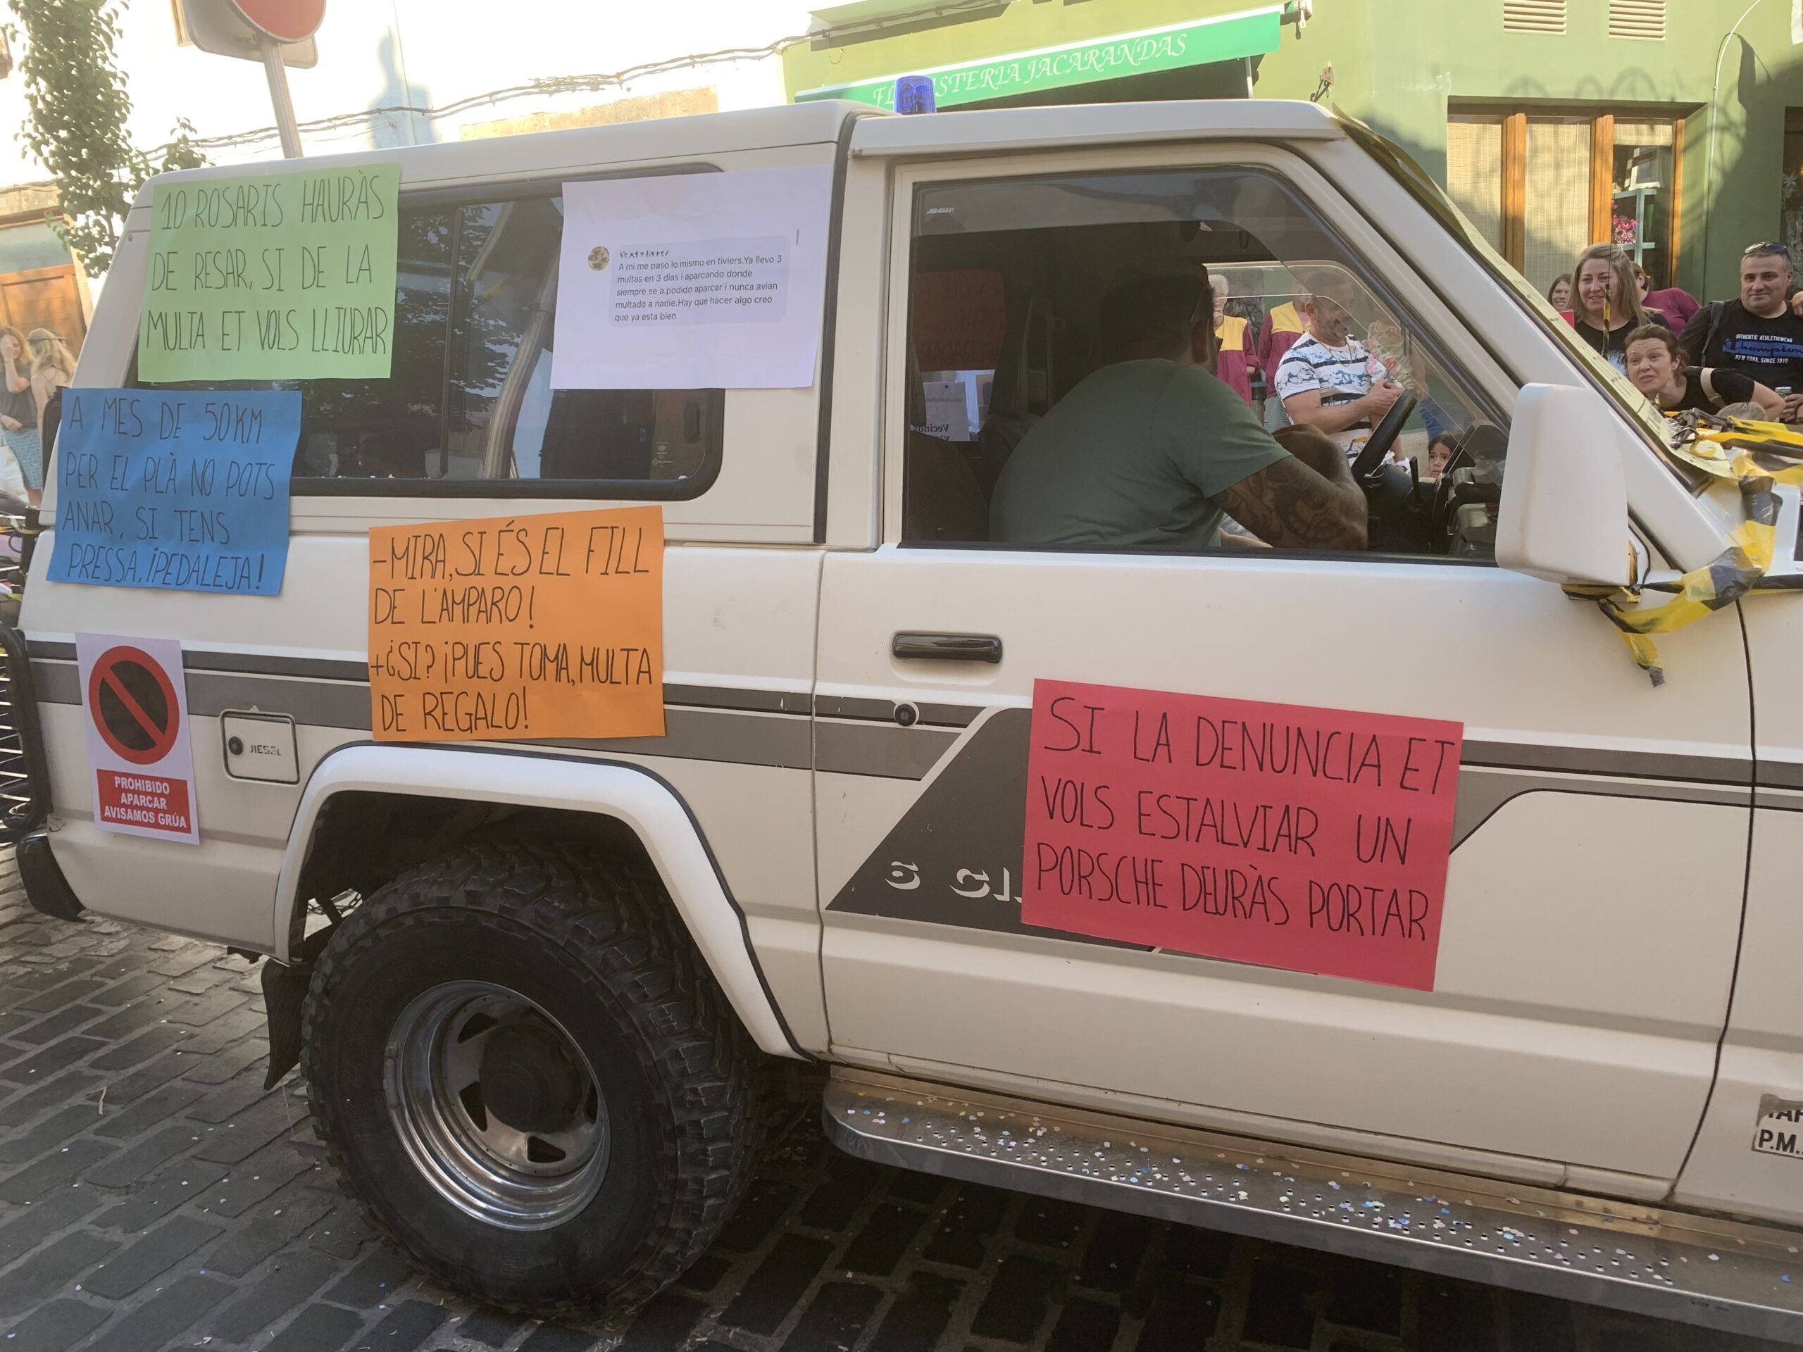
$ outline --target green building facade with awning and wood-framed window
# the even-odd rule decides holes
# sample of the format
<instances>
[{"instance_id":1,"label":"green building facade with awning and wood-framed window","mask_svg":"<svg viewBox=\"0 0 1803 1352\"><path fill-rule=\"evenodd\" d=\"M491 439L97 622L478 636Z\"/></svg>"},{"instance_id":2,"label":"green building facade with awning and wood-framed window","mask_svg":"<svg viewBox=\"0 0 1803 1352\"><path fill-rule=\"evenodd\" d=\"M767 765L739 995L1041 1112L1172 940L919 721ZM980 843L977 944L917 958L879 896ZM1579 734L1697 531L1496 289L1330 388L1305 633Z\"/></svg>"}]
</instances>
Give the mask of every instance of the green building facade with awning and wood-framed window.
<instances>
[{"instance_id":1,"label":"green building facade with awning and wood-framed window","mask_svg":"<svg viewBox=\"0 0 1803 1352\"><path fill-rule=\"evenodd\" d=\"M1320 99L1542 288L1597 240L1698 296L1749 243L1803 258L1803 0L858 0L783 63L797 99Z\"/></svg>"}]
</instances>

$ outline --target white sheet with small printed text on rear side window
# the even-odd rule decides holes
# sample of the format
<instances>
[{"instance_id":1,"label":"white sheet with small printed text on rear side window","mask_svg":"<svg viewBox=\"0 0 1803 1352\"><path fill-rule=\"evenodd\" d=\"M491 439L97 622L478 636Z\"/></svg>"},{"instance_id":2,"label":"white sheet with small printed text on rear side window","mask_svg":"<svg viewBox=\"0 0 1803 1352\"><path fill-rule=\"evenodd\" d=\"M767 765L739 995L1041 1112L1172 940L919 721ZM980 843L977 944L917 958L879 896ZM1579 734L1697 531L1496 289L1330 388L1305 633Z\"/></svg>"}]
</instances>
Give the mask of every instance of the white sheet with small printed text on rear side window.
<instances>
[{"instance_id":1,"label":"white sheet with small printed text on rear side window","mask_svg":"<svg viewBox=\"0 0 1803 1352\"><path fill-rule=\"evenodd\" d=\"M828 166L564 184L554 389L813 384Z\"/></svg>"}]
</instances>

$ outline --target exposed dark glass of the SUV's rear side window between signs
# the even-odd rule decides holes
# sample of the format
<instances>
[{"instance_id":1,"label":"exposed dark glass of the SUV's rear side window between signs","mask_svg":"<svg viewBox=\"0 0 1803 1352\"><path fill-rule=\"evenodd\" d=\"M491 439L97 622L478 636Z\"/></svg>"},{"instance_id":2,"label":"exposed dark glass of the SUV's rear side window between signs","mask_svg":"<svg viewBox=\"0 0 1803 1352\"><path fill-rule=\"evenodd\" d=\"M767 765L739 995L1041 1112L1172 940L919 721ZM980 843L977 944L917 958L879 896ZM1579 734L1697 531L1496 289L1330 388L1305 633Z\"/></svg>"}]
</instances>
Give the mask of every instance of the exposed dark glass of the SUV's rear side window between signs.
<instances>
[{"instance_id":1,"label":"exposed dark glass of the SUV's rear side window between signs","mask_svg":"<svg viewBox=\"0 0 1803 1352\"><path fill-rule=\"evenodd\" d=\"M386 380L299 389L294 492L689 498L721 389L552 389L563 200L402 200ZM171 386L173 388L173 386Z\"/></svg>"}]
</instances>

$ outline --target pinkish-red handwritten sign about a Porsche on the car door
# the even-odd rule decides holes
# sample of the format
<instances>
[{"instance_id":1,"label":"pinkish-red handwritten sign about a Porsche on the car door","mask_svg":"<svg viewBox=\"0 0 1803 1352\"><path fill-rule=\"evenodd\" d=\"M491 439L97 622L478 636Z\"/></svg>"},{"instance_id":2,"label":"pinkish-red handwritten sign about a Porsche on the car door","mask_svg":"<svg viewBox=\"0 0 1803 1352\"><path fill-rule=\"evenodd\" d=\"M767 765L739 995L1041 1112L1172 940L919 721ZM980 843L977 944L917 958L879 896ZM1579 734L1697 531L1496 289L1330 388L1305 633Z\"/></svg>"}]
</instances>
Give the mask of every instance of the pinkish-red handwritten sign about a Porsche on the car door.
<instances>
[{"instance_id":1,"label":"pinkish-red handwritten sign about a Porsche on the car door","mask_svg":"<svg viewBox=\"0 0 1803 1352\"><path fill-rule=\"evenodd\" d=\"M1433 990L1462 723L1033 683L1020 919Z\"/></svg>"}]
</instances>

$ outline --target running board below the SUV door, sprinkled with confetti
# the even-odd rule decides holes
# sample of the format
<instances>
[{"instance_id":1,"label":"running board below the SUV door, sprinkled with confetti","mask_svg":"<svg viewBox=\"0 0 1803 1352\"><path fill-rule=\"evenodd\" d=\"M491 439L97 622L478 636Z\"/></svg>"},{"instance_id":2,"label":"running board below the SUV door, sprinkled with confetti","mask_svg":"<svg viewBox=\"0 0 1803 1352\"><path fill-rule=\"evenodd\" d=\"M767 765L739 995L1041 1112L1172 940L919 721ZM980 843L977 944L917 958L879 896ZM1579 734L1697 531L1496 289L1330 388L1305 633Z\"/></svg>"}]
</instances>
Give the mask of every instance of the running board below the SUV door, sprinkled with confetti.
<instances>
[{"instance_id":1,"label":"running board below the SUV door, sprinkled with confetti","mask_svg":"<svg viewBox=\"0 0 1803 1352\"><path fill-rule=\"evenodd\" d=\"M1803 1345L1803 1233L835 1069L844 1152Z\"/></svg>"}]
</instances>

